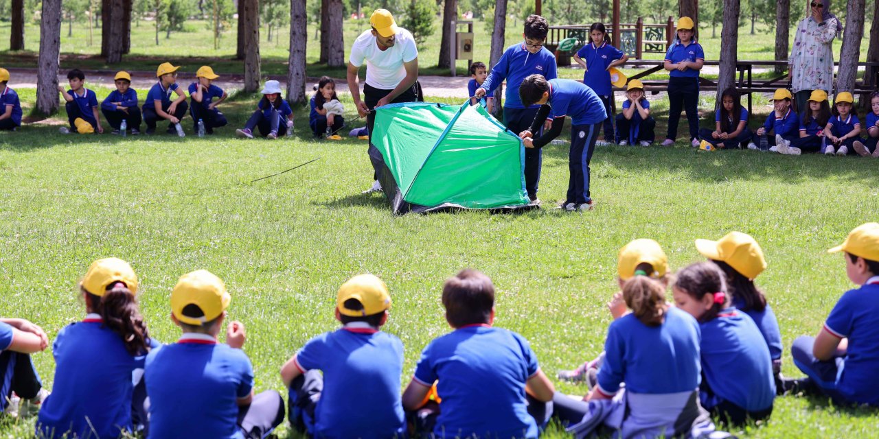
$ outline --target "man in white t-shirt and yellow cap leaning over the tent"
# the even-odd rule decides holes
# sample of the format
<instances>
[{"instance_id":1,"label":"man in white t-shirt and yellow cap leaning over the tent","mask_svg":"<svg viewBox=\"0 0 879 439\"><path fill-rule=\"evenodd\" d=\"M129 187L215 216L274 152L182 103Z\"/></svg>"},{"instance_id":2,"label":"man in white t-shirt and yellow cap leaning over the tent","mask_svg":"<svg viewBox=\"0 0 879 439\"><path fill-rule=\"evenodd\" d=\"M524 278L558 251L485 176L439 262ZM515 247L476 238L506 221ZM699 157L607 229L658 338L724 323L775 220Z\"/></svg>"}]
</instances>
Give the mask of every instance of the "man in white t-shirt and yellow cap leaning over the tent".
<instances>
[{"instance_id":1,"label":"man in white t-shirt and yellow cap leaning over the tent","mask_svg":"<svg viewBox=\"0 0 879 439\"><path fill-rule=\"evenodd\" d=\"M367 117L369 128L370 155L381 154L372 151L373 125L375 113L372 110L385 104L415 102L424 100L418 94L418 48L412 34L397 27L394 16L389 11L377 9L369 18L372 29L363 32L354 40L351 57L348 60L348 90L360 117ZM360 66L367 64L367 82L363 86L363 100L360 100ZM375 182L364 193L381 191L378 169L375 169Z\"/></svg>"}]
</instances>

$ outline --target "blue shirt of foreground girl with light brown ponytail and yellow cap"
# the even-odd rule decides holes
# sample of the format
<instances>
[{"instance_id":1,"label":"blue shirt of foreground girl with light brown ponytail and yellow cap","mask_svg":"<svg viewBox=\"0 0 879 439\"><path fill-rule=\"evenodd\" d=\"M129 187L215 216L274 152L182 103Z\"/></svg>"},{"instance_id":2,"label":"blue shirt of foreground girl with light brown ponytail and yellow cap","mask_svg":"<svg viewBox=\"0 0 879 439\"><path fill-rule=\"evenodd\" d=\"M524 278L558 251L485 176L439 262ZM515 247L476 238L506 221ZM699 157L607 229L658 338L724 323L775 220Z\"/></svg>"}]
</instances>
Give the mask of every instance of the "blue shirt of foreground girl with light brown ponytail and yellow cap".
<instances>
[{"instance_id":1,"label":"blue shirt of foreground girl with light brown ponytail and yellow cap","mask_svg":"<svg viewBox=\"0 0 879 439\"><path fill-rule=\"evenodd\" d=\"M607 327L597 389L609 396L625 382L635 393L693 392L701 382L700 340L699 324L676 307L656 327L628 313Z\"/></svg>"}]
</instances>

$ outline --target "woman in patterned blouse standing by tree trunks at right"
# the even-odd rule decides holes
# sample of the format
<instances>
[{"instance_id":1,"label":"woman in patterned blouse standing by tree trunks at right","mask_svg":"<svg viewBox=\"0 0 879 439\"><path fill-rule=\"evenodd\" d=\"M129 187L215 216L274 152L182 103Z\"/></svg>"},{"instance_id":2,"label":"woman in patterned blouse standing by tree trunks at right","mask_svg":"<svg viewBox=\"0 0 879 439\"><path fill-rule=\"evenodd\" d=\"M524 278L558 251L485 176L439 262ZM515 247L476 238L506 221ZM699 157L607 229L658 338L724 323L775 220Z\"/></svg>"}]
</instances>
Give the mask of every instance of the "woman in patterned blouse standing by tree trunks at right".
<instances>
[{"instance_id":1,"label":"woman in patterned blouse standing by tree trunks at right","mask_svg":"<svg viewBox=\"0 0 879 439\"><path fill-rule=\"evenodd\" d=\"M797 111L805 108L812 90L833 88L833 39L842 33L842 23L830 13L831 0L810 0L810 15L796 26L794 49L788 60L788 78Z\"/></svg>"}]
</instances>

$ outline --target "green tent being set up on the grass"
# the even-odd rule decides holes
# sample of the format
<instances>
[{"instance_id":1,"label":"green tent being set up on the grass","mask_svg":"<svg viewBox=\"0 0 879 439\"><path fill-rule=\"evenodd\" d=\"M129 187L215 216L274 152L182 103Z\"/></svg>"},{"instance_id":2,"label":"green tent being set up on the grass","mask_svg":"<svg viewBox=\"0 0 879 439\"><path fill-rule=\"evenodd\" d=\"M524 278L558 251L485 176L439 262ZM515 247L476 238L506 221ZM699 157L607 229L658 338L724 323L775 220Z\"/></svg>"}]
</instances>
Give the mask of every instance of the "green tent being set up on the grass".
<instances>
[{"instance_id":1,"label":"green tent being set up on the grass","mask_svg":"<svg viewBox=\"0 0 879 439\"><path fill-rule=\"evenodd\" d=\"M482 105L381 106L369 150L397 214L534 207L522 176L521 140Z\"/></svg>"}]
</instances>

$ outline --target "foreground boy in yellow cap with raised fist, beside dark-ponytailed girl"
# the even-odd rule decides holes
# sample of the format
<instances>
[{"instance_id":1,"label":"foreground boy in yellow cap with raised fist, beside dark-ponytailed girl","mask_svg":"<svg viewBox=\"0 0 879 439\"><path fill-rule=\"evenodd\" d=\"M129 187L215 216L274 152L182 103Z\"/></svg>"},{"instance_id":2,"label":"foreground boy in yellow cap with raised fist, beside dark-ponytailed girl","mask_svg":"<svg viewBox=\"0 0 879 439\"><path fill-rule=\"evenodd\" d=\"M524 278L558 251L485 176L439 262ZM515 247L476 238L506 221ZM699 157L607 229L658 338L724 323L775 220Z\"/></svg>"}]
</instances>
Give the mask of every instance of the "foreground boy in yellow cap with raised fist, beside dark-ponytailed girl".
<instances>
[{"instance_id":1,"label":"foreground boy in yellow cap with raised fist, beside dark-ponytailed girl","mask_svg":"<svg viewBox=\"0 0 879 439\"><path fill-rule=\"evenodd\" d=\"M243 325L230 322L228 344L217 342L230 301L207 270L185 274L171 291L171 320L183 335L147 356L149 438L265 437L284 421L280 393L253 394Z\"/></svg>"}]
</instances>

